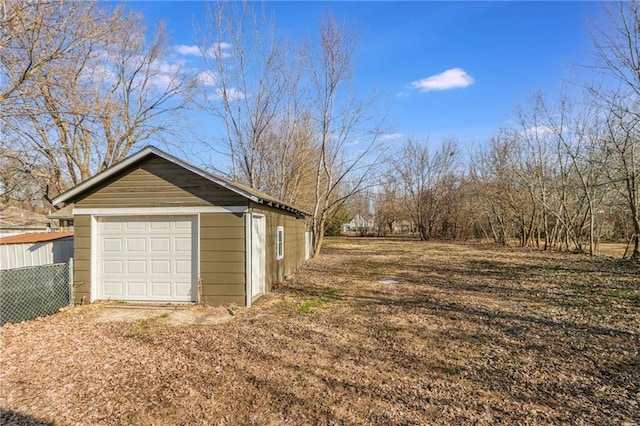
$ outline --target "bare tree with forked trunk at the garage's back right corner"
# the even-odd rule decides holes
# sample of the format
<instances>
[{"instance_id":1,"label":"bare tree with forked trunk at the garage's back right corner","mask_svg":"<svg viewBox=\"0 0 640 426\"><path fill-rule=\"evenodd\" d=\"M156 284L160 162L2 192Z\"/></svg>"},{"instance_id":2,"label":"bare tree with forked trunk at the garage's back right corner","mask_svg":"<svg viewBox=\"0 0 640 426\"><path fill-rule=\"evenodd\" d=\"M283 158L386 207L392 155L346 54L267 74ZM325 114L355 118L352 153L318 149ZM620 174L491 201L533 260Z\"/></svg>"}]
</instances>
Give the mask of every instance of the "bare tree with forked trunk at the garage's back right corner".
<instances>
[{"instance_id":1,"label":"bare tree with forked trunk at the garage's back right corner","mask_svg":"<svg viewBox=\"0 0 640 426\"><path fill-rule=\"evenodd\" d=\"M355 35L327 15L320 22L319 46L304 49L311 87L307 105L318 147L311 211L313 257L320 253L326 224L337 209L375 185L375 166L384 154L373 98L360 98L353 91L355 46Z\"/></svg>"}]
</instances>

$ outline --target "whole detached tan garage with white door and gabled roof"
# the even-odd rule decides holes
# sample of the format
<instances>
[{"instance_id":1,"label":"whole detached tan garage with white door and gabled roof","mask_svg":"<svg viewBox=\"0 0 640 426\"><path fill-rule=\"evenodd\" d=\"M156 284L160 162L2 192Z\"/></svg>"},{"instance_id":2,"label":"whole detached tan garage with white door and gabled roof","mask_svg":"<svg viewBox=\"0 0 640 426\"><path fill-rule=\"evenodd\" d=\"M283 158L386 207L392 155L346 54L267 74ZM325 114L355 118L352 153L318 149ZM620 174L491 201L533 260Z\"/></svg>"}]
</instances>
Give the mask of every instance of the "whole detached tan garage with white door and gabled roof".
<instances>
[{"instance_id":1,"label":"whole detached tan garage with white door and gabled roof","mask_svg":"<svg viewBox=\"0 0 640 426\"><path fill-rule=\"evenodd\" d=\"M251 306L308 252L303 211L151 146L53 203L73 204L76 303Z\"/></svg>"}]
</instances>

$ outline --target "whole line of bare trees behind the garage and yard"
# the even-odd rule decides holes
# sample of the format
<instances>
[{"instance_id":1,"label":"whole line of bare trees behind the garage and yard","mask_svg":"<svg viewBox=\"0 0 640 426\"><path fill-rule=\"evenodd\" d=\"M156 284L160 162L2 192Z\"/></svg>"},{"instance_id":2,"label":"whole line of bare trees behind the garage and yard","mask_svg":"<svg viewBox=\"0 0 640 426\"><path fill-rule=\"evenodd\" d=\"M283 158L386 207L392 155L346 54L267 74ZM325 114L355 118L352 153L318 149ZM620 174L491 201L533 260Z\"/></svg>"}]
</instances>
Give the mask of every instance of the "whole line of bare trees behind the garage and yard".
<instances>
[{"instance_id":1,"label":"whole line of bare trees behind the garage and yard","mask_svg":"<svg viewBox=\"0 0 640 426\"><path fill-rule=\"evenodd\" d=\"M180 144L189 111L224 134L202 141L216 170L310 213L314 255L332 219L359 211L377 232L403 221L420 239L640 258L640 17L608 6L593 29L602 84L536 94L488 141L383 141L384 111L353 90L353 27L327 15L286 40L261 5L211 3L194 28L205 69L171 61L165 29L97 2L3 0L0 201L46 200L150 141ZM384 142L384 143L383 143Z\"/></svg>"}]
</instances>

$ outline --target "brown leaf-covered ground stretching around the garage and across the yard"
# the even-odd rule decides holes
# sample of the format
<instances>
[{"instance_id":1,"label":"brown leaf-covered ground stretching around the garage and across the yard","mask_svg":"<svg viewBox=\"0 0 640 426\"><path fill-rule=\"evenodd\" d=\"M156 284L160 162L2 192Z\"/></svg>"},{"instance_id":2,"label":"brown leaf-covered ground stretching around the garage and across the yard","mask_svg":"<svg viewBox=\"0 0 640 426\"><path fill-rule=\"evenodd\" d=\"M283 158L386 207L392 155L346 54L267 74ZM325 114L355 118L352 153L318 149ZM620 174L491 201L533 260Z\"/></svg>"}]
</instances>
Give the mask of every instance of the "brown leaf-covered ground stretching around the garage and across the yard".
<instances>
[{"instance_id":1,"label":"brown leaf-covered ground stretching around the garage and across the yard","mask_svg":"<svg viewBox=\"0 0 640 426\"><path fill-rule=\"evenodd\" d=\"M0 424L640 423L625 261L329 239L251 309L109 309L0 327Z\"/></svg>"}]
</instances>

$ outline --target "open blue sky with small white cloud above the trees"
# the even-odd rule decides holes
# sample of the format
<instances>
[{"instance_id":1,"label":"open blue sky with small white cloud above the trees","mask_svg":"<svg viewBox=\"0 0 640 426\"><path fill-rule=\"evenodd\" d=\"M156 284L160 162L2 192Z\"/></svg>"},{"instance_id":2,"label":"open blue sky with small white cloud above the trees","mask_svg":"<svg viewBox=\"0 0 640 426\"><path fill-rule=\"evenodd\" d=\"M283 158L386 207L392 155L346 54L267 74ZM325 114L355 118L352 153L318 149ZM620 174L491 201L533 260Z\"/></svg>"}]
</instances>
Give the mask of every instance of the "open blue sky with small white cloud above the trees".
<instances>
[{"instance_id":1,"label":"open blue sky with small white cloud above the trees","mask_svg":"<svg viewBox=\"0 0 640 426\"><path fill-rule=\"evenodd\" d=\"M167 24L173 46L193 46L203 2L131 2L149 26ZM514 107L541 90L557 92L591 61L588 28L598 2L266 2L291 39L317 31L324 14L353 26L356 90L376 91L390 132L483 143ZM576 73L582 77L576 77ZM194 117L195 119L195 117ZM202 119L201 117L199 119ZM208 122L203 132L221 128ZM207 137L207 136L205 136ZM399 138L398 140L402 140Z\"/></svg>"}]
</instances>

